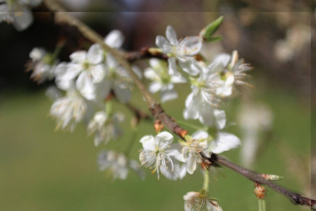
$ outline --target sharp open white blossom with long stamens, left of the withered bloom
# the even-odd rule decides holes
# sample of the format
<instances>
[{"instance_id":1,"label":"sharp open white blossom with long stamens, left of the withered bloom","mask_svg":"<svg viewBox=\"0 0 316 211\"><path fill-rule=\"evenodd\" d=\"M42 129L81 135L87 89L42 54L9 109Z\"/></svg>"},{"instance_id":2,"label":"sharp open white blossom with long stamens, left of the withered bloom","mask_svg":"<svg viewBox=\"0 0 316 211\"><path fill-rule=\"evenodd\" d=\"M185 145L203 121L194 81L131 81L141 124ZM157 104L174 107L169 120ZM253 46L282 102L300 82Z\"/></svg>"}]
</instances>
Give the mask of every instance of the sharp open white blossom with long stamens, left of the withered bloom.
<instances>
[{"instance_id":1,"label":"sharp open white blossom with long stamens, left of the withered bloom","mask_svg":"<svg viewBox=\"0 0 316 211\"><path fill-rule=\"evenodd\" d=\"M179 162L184 162L181 153L182 147L180 144L172 144L173 135L168 132L159 133L155 138L151 135L144 136L140 142L143 144L143 149L140 150L139 160L142 165L154 169L151 173L157 171L164 175L169 180L179 178L180 166Z\"/></svg>"}]
</instances>

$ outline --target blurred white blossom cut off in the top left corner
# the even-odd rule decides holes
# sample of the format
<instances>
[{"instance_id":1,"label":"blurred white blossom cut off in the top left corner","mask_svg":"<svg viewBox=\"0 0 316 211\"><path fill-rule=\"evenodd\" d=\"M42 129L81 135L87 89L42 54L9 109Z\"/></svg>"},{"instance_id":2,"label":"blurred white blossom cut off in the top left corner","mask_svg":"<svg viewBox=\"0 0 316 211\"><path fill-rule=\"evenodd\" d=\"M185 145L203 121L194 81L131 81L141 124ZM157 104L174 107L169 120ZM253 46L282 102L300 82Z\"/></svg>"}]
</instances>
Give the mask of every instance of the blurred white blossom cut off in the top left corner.
<instances>
[{"instance_id":1,"label":"blurred white blossom cut off in the top left corner","mask_svg":"<svg viewBox=\"0 0 316 211\"><path fill-rule=\"evenodd\" d=\"M35 7L42 0L1 0L0 23L5 21L12 23L18 31L23 31L33 22L33 15L29 6Z\"/></svg>"}]
</instances>

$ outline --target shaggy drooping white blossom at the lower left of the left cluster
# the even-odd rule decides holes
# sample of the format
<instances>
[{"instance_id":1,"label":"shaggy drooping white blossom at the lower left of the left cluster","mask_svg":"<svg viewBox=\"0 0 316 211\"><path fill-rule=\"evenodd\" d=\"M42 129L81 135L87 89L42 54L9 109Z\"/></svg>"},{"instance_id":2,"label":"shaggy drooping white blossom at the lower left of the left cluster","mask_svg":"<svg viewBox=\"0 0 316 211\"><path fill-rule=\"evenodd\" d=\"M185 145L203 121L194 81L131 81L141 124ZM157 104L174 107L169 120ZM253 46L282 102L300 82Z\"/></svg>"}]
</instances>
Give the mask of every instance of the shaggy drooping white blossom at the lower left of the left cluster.
<instances>
[{"instance_id":1,"label":"shaggy drooping white blossom at the lower left of the left cluster","mask_svg":"<svg viewBox=\"0 0 316 211\"><path fill-rule=\"evenodd\" d=\"M73 81L66 85L58 84L59 88L66 90L66 96L57 98L50 109L50 115L56 119L56 130L70 130L72 132L78 122L82 121L88 110L86 99L76 90Z\"/></svg>"}]
</instances>

